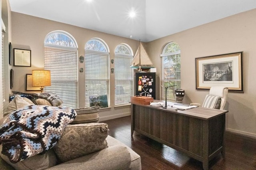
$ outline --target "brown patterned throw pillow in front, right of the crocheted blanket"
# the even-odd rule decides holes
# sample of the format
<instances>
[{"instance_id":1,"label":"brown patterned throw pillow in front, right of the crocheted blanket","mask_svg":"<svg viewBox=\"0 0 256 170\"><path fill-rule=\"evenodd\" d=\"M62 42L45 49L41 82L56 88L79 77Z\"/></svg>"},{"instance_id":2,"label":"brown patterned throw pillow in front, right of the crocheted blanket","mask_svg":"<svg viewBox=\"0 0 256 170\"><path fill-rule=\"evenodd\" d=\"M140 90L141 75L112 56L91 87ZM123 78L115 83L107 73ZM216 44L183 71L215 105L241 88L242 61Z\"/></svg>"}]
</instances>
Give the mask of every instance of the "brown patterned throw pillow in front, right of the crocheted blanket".
<instances>
[{"instance_id":1,"label":"brown patterned throw pillow in front, right of the crocheted blanket","mask_svg":"<svg viewBox=\"0 0 256 170\"><path fill-rule=\"evenodd\" d=\"M106 123L68 125L53 147L61 162L96 152L108 147Z\"/></svg>"}]
</instances>

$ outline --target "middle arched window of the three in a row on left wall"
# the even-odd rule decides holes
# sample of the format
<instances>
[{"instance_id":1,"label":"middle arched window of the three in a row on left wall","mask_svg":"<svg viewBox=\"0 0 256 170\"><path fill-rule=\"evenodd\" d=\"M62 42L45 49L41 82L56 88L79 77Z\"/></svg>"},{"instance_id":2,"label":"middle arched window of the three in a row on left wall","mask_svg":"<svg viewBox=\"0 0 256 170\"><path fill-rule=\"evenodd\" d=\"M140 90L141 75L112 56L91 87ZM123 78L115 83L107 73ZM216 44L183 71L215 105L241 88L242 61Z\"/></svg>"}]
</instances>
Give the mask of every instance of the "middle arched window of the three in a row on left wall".
<instances>
[{"instance_id":1,"label":"middle arched window of the three in a row on left wall","mask_svg":"<svg viewBox=\"0 0 256 170\"><path fill-rule=\"evenodd\" d=\"M109 104L109 50L98 38L85 45L85 106L108 107ZM107 103L108 102L108 103Z\"/></svg>"}]
</instances>

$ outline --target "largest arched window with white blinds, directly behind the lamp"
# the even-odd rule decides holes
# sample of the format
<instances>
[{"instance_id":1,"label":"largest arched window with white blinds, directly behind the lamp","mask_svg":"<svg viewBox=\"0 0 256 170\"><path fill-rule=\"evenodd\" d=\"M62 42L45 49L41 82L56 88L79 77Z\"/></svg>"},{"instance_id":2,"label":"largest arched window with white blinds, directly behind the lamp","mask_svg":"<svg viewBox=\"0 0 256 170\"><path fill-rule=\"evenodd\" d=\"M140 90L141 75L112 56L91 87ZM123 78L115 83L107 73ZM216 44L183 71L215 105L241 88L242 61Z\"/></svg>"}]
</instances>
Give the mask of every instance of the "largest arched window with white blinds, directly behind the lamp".
<instances>
[{"instance_id":1,"label":"largest arched window with white blinds, directly behind the lamp","mask_svg":"<svg viewBox=\"0 0 256 170\"><path fill-rule=\"evenodd\" d=\"M63 106L78 107L78 49L74 38L63 31L50 32L44 40L44 69L51 71L53 91Z\"/></svg>"}]
</instances>

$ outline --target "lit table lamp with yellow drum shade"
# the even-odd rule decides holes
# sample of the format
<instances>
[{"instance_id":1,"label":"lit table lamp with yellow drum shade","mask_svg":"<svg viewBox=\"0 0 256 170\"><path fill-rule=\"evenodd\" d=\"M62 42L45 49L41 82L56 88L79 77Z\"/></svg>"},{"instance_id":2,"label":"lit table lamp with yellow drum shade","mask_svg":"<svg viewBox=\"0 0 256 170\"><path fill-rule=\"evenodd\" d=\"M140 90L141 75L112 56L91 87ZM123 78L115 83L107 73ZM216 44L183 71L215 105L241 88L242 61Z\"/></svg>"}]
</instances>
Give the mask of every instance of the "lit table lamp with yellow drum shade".
<instances>
[{"instance_id":1,"label":"lit table lamp with yellow drum shade","mask_svg":"<svg viewBox=\"0 0 256 170\"><path fill-rule=\"evenodd\" d=\"M44 86L51 85L50 70L32 70L32 86L40 86L41 93L44 92Z\"/></svg>"}]
</instances>

